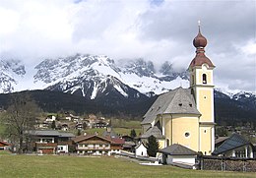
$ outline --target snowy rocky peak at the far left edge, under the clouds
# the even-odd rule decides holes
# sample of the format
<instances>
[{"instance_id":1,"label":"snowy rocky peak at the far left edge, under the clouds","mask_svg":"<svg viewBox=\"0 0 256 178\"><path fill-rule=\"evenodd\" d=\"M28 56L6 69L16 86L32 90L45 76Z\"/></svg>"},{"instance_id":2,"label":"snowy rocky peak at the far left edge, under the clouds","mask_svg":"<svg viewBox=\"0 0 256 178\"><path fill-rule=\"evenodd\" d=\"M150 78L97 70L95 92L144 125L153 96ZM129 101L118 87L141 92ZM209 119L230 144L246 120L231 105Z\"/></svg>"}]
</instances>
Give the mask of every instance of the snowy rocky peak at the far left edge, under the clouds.
<instances>
[{"instance_id":1,"label":"snowy rocky peak at the far left edge, under the clouds","mask_svg":"<svg viewBox=\"0 0 256 178\"><path fill-rule=\"evenodd\" d=\"M0 60L0 93L13 91L25 74L25 66L21 61Z\"/></svg>"}]
</instances>

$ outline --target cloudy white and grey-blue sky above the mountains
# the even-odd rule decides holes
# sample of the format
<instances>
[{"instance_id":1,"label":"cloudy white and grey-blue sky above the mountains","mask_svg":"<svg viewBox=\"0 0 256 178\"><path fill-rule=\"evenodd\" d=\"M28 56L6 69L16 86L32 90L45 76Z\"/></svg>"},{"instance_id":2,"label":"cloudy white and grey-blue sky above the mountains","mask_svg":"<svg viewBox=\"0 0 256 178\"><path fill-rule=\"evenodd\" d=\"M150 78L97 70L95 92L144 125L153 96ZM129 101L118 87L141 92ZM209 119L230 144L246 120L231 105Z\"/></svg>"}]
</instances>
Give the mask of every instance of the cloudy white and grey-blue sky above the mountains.
<instances>
[{"instance_id":1,"label":"cloudy white and grey-blue sky above the mountains","mask_svg":"<svg viewBox=\"0 0 256 178\"><path fill-rule=\"evenodd\" d=\"M75 53L187 69L199 20L216 87L256 91L255 0L0 0L0 58L27 71Z\"/></svg>"}]
</instances>

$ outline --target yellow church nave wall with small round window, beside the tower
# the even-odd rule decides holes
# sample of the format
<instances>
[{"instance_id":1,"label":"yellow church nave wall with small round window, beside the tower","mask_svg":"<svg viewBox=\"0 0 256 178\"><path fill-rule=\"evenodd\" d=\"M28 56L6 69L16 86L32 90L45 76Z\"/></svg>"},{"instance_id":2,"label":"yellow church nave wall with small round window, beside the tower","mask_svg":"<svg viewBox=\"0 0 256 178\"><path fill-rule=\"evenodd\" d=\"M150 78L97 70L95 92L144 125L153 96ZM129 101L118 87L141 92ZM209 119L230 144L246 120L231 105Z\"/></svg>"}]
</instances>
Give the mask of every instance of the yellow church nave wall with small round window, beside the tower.
<instances>
[{"instance_id":1,"label":"yellow church nave wall with small round window, beside the tower","mask_svg":"<svg viewBox=\"0 0 256 178\"><path fill-rule=\"evenodd\" d=\"M198 117L173 117L172 144L180 144L195 151L199 150ZM186 136L186 133L189 136Z\"/></svg>"}]
</instances>

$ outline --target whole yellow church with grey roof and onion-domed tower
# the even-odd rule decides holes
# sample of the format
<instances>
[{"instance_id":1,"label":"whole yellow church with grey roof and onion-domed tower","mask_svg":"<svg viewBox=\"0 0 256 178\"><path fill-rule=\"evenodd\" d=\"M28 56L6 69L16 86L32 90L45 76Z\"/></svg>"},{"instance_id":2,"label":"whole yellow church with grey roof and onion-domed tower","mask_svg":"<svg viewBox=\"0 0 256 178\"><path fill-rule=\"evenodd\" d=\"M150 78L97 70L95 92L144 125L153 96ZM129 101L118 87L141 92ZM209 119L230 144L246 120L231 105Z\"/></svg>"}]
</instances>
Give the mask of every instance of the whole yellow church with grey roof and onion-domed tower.
<instances>
[{"instance_id":1,"label":"whole yellow church with grey roof and onion-domed tower","mask_svg":"<svg viewBox=\"0 0 256 178\"><path fill-rule=\"evenodd\" d=\"M155 136L160 148L181 145L205 155L215 149L214 64L205 54L207 39L200 26L193 40L196 55L188 67L189 89L160 94L145 114L141 140Z\"/></svg>"}]
</instances>

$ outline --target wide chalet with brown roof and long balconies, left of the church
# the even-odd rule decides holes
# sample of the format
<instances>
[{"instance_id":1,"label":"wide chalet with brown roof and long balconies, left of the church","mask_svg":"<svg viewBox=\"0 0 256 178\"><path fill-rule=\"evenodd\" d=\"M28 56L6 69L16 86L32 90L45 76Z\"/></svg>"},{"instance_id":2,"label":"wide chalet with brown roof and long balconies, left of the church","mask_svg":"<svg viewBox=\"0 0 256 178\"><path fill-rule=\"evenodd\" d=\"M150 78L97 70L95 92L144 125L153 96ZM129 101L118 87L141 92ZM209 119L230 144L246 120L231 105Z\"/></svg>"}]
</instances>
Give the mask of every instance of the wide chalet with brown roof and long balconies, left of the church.
<instances>
[{"instance_id":1,"label":"wide chalet with brown roof and long balconies, left of the church","mask_svg":"<svg viewBox=\"0 0 256 178\"><path fill-rule=\"evenodd\" d=\"M110 155L119 153L124 144L122 139L108 139L97 135L78 136L73 139L78 154Z\"/></svg>"}]
</instances>

